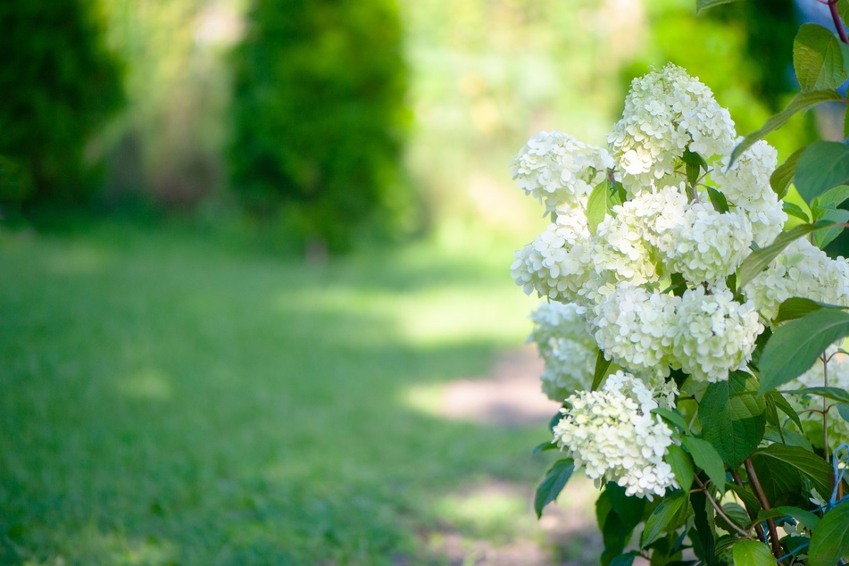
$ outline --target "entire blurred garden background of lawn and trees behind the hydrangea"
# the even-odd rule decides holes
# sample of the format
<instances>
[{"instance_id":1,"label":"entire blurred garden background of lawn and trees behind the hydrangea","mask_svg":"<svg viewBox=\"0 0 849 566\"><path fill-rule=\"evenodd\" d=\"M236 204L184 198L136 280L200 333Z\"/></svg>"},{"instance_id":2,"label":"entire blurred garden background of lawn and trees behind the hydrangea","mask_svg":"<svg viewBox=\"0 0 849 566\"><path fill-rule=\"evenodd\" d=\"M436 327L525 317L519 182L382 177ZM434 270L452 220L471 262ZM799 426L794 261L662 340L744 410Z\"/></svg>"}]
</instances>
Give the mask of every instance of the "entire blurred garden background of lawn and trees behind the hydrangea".
<instances>
[{"instance_id":1,"label":"entire blurred garden background of lawn and trees behind the hydrangea","mask_svg":"<svg viewBox=\"0 0 849 566\"><path fill-rule=\"evenodd\" d=\"M759 128L800 6L694 4L0 3L0 564L595 563L507 163L668 61Z\"/></svg>"}]
</instances>

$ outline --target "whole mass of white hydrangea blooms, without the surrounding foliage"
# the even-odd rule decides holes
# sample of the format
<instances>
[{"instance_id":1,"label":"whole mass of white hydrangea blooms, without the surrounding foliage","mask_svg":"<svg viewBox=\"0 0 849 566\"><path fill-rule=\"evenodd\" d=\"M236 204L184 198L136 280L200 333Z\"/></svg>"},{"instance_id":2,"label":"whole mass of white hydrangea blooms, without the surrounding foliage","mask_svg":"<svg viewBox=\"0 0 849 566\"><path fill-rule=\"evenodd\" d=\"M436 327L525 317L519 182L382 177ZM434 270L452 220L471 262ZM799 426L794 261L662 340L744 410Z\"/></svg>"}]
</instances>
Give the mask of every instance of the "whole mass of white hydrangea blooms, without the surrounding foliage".
<instances>
[{"instance_id":1,"label":"whole mass of white hydrangea blooms, without the surrounding foliage","mask_svg":"<svg viewBox=\"0 0 849 566\"><path fill-rule=\"evenodd\" d=\"M629 494L675 486L662 462L671 431L645 391L677 392L673 375L694 390L728 379L745 370L782 301L840 304L849 294L849 262L804 239L745 294L736 288L745 258L787 221L770 187L776 150L760 141L729 166L737 141L711 89L670 64L632 82L606 149L542 132L512 161L519 187L553 217L511 271L551 302L531 339L546 395L569 395L554 440L587 475ZM582 390L598 351L621 370L603 390Z\"/></svg>"}]
</instances>

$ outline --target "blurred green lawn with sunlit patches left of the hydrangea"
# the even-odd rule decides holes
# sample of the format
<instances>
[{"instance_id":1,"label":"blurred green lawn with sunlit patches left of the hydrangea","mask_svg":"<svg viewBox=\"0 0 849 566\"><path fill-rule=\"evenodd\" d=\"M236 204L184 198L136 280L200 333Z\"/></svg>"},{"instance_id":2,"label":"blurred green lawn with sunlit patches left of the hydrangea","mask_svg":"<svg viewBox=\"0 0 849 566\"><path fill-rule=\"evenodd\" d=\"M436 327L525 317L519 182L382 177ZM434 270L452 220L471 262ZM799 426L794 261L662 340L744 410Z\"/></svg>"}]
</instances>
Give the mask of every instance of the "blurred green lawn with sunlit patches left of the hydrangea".
<instances>
[{"instance_id":1,"label":"blurred green lawn with sunlit patches left of the hydrangea","mask_svg":"<svg viewBox=\"0 0 849 566\"><path fill-rule=\"evenodd\" d=\"M316 266L167 227L0 237L0 563L439 564L447 529L537 536L527 501L457 502L532 486L544 431L405 401L520 345L511 254Z\"/></svg>"}]
</instances>

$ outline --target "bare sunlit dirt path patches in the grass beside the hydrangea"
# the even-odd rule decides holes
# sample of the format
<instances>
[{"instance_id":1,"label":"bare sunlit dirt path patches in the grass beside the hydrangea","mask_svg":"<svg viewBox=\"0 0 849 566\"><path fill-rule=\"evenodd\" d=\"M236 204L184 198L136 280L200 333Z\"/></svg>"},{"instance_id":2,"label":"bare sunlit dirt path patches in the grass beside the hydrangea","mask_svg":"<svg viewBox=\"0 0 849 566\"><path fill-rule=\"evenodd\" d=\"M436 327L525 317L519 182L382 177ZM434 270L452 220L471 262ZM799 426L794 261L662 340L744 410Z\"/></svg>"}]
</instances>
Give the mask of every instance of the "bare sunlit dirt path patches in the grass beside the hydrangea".
<instances>
[{"instance_id":1,"label":"bare sunlit dirt path patches in the grass beside the hydrangea","mask_svg":"<svg viewBox=\"0 0 849 566\"><path fill-rule=\"evenodd\" d=\"M455 420L472 420L495 426L513 427L545 424L560 405L540 391L539 376L543 362L532 347L507 352L487 375L461 379L442 389L439 413ZM528 502L528 515L533 520L531 502L534 486L492 481L466 493L462 501L481 498L496 501ZM433 552L445 556L457 566L589 566L598 562L601 537L595 528L594 503L597 491L591 481L576 477L570 480L557 504L545 509L543 519L532 523L523 537L494 545L488 540L470 540L446 528L431 536ZM517 519L527 520L527 517ZM431 534L433 535L433 534Z\"/></svg>"}]
</instances>

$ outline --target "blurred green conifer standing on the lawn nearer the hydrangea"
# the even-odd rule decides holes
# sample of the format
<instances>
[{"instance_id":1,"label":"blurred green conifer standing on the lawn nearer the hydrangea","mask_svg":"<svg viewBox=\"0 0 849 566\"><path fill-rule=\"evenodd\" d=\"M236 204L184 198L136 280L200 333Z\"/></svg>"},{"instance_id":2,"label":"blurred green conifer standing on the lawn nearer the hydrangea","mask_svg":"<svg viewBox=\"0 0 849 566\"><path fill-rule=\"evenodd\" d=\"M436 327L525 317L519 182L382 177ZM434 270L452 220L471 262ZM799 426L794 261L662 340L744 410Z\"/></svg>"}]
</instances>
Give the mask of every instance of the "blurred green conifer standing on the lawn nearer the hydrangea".
<instances>
[{"instance_id":1,"label":"blurred green conifer standing on the lawn nearer the hydrangea","mask_svg":"<svg viewBox=\"0 0 849 566\"><path fill-rule=\"evenodd\" d=\"M249 211L331 251L410 222L395 0L256 0L234 67L231 183Z\"/></svg>"}]
</instances>

